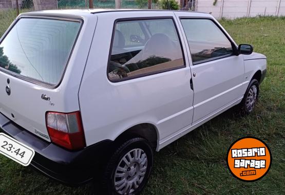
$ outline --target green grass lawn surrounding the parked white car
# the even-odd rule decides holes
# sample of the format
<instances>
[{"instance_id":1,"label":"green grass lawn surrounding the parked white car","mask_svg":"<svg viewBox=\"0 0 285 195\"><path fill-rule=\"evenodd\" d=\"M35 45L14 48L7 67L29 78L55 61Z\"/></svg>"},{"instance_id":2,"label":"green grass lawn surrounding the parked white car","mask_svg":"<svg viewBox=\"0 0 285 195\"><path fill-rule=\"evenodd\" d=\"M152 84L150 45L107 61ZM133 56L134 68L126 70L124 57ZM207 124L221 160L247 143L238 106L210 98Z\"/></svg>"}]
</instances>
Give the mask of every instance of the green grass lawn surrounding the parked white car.
<instances>
[{"instance_id":1,"label":"green grass lawn surrounding the parked white car","mask_svg":"<svg viewBox=\"0 0 285 195\"><path fill-rule=\"evenodd\" d=\"M252 44L268 57L255 112L240 117L226 111L156 153L144 195L285 194L285 17L223 19L221 24L238 44ZM272 151L271 169L260 181L241 182L226 167L227 149L243 136L264 140ZM91 189L91 184L66 187L0 156L0 194L89 194Z\"/></svg>"}]
</instances>

